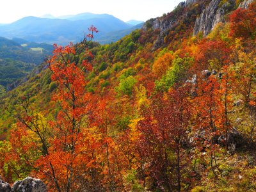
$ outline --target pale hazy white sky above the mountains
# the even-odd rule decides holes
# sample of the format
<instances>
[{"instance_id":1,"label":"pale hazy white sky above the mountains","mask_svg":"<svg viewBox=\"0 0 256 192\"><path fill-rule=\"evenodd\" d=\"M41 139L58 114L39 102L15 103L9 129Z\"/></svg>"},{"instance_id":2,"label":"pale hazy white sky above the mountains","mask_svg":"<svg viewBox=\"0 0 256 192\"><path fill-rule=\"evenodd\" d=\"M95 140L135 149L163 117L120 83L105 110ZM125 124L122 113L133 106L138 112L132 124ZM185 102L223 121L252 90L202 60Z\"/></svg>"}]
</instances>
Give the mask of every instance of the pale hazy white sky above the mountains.
<instances>
[{"instance_id":1,"label":"pale hazy white sky above the mountains","mask_svg":"<svg viewBox=\"0 0 256 192\"><path fill-rule=\"evenodd\" d=\"M180 1L182 0L1 0L0 23L10 23L26 16L61 16L83 12L108 13L124 21L145 21L171 12Z\"/></svg>"}]
</instances>

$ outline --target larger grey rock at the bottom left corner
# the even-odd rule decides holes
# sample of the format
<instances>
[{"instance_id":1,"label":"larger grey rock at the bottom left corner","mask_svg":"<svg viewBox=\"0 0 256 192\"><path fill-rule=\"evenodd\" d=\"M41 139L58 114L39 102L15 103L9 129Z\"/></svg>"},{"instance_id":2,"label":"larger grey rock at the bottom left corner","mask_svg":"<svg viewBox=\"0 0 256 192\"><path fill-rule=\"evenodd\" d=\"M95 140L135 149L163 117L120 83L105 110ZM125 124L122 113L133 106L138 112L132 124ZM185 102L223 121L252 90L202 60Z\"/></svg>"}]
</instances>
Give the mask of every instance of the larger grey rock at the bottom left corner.
<instances>
[{"instance_id":1,"label":"larger grey rock at the bottom left corner","mask_svg":"<svg viewBox=\"0 0 256 192\"><path fill-rule=\"evenodd\" d=\"M45 184L40 179L26 177L23 180L17 180L13 186L14 192L47 192Z\"/></svg>"}]
</instances>

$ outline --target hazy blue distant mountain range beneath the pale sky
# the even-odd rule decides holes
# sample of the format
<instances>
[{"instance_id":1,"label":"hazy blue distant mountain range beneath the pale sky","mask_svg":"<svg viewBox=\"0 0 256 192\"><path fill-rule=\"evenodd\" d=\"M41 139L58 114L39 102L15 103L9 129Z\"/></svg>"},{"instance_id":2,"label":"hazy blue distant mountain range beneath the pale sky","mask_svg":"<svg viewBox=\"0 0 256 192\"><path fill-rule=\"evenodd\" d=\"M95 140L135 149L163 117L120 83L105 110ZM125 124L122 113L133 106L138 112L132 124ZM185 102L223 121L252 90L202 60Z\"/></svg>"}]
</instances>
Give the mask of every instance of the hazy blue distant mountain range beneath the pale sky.
<instances>
[{"instance_id":1,"label":"hazy blue distant mountain range beneath the pale sky","mask_svg":"<svg viewBox=\"0 0 256 192\"><path fill-rule=\"evenodd\" d=\"M143 21L124 22L113 15L93 13L61 17L30 16L11 24L0 25L0 36L22 38L28 42L68 44L69 42L79 42L84 33L88 33L88 28L93 25L100 31L95 35L95 41L100 44L108 44L129 34L134 29L141 28L141 25L137 25L141 22Z\"/></svg>"}]
</instances>

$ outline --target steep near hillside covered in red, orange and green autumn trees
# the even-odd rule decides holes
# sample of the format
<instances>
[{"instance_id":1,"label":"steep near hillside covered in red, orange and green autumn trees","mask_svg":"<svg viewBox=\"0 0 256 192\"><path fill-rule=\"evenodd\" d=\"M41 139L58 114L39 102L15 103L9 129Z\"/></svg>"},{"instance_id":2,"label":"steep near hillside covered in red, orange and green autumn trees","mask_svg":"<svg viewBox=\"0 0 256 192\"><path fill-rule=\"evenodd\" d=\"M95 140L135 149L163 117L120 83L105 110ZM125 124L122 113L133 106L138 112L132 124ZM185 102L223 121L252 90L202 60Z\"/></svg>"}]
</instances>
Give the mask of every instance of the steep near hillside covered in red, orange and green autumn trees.
<instances>
[{"instance_id":1,"label":"steep near hillside covered in red, orange and green autumn trees","mask_svg":"<svg viewBox=\"0 0 256 192\"><path fill-rule=\"evenodd\" d=\"M0 175L49 191L256 191L256 2L188 0L54 45L2 94Z\"/></svg>"}]
</instances>

